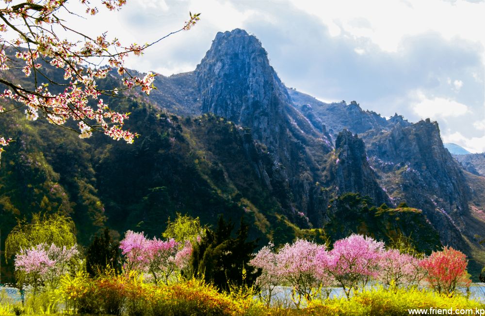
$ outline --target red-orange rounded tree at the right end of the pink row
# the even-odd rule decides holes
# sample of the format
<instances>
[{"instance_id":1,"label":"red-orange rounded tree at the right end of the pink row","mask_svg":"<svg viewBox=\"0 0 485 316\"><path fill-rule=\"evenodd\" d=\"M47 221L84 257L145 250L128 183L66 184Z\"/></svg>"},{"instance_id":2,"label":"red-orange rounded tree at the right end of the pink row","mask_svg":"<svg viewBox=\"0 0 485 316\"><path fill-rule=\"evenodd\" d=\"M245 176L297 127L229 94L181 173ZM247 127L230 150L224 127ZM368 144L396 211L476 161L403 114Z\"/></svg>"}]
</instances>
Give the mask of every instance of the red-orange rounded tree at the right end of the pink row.
<instances>
[{"instance_id":1,"label":"red-orange rounded tree at the right end of the pink row","mask_svg":"<svg viewBox=\"0 0 485 316\"><path fill-rule=\"evenodd\" d=\"M471 280L467 272L467 256L461 251L445 247L424 258L420 266L425 270L425 280L439 293L452 296L459 287L469 288Z\"/></svg>"}]
</instances>

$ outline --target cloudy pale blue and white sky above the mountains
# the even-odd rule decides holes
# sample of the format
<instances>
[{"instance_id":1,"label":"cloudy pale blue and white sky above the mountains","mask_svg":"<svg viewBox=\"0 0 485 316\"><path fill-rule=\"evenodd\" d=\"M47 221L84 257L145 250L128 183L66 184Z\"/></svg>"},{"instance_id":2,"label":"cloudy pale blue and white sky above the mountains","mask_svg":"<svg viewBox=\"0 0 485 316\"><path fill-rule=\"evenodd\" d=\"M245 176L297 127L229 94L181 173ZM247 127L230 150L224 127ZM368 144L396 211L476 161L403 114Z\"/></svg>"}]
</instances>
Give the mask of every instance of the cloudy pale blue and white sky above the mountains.
<instances>
[{"instance_id":1,"label":"cloudy pale blue and white sky above the mountains","mask_svg":"<svg viewBox=\"0 0 485 316\"><path fill-rule=\"evenodd\" d=\"M123 42L152 46L128 66L171 75L195 69L218 31L259 38L288 86L323 101L356 100L383 116L439 122L445 142L485 151L485 0L129 0L92 22Z\"/></svg>"}]
</instances>

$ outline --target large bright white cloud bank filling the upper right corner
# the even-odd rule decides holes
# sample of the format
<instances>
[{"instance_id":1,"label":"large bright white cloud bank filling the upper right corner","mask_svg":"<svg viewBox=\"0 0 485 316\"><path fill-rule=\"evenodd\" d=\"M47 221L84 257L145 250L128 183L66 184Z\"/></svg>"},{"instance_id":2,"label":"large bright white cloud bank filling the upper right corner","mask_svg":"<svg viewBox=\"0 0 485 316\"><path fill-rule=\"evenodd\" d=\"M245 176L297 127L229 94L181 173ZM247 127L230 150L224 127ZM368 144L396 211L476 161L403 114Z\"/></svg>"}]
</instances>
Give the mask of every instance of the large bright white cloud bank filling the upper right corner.
<instances>
[{"instance_id":1,"label":"large bright white cloud bank filling the upper right corner","mask_svg":"<svg viewBox=\"0 0 485 316\"><path fill-rule=\"evenodd\" d=\"M356 37L370 38L386 51L397 51L406 36L436 31L445 39L469 39L485 45L482 30L485 2L466 0L298 0L293 4L310 15L319 17L328 25L339 16L343 31ZM369 25L356 25L356 19L365 17Z\"/></svg>"}]
</instances>

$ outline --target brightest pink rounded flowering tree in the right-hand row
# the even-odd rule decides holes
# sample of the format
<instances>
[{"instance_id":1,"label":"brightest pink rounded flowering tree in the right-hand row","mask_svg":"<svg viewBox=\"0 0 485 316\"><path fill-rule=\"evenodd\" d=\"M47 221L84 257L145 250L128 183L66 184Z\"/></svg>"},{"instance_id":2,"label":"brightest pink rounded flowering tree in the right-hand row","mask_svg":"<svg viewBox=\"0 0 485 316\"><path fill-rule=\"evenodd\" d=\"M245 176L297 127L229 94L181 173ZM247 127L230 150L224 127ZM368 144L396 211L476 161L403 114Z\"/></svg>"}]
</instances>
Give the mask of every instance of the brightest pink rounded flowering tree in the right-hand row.
<instances>
[{"instance_id":1,"label":"brightest pink rounded flowering tree in the right-hand row","mask_svg":"<svg viewBox=\"0 0 485 316\"><path fill-rule=\"evenodd\" d=\"M384 242L352 234L335 241L331 251L321 250L317 260L321 268L343 287L345 295L350 297L352 289L363 288L370 279L377 278L383 254Z\"/></svg>"}]
</instances>

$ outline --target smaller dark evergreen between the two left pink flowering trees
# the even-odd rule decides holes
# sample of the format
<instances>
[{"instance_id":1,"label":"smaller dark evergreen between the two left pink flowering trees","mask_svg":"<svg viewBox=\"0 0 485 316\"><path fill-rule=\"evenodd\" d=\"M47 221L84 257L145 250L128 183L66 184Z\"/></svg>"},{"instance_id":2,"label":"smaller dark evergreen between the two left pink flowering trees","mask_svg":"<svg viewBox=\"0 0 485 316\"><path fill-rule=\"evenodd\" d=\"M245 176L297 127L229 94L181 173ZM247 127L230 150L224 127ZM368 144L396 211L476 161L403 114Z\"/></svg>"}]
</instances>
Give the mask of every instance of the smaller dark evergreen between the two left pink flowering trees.
<instances>
[{"instance_id":1,"label":"smaller dark evergreen between the two left pink flowering trees","mask_svg":"<svg viewBox=\"0 0 485 316\"><path fill-rule=\"evenodd\" d=\"M108 228L104 234L97 235L86 252L86 271L91 276L101 274L106 269L120 271L119 242L113 241Z\"/></svg>"}]
</instances>

